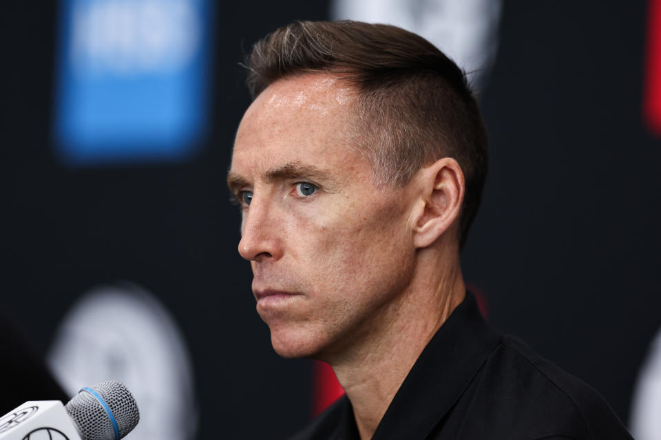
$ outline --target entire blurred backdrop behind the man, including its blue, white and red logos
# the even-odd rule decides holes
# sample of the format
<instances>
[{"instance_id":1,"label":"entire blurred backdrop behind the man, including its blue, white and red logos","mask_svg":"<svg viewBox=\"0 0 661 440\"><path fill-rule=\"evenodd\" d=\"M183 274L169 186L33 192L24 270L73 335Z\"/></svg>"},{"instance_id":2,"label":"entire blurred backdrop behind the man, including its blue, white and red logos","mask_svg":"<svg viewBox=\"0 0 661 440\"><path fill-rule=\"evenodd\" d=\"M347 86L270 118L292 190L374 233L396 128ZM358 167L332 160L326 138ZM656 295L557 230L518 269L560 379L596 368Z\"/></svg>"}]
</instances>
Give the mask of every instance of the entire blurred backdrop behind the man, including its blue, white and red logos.
<instances>
[{"instance_id":1,"label":"entire blurred backdrop behind the man, including its blue, white and red logos","mask_svg":"<svg viewBox=\"0 0 661 440\"><path fill-rule=\"evenodd\" d=\"M239 63L297 19L393 23L491 135L465 276L492 324L661 438L661 0L61 0L0 14L0 414L125 382L129 439L284 439L337 397L255 312L225 178Z\"/></svg>"}]
</instances>

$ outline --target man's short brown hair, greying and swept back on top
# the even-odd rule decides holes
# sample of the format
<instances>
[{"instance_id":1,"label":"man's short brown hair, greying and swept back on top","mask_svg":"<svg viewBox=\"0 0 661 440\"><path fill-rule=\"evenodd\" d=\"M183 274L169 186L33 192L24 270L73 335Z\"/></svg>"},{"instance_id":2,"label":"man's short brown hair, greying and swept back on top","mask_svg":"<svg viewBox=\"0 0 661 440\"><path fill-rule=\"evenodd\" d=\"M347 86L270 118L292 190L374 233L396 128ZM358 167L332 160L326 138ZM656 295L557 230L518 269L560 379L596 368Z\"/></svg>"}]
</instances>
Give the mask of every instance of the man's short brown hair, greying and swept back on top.
<instances>
[{"instance_id":1,"label":"man's short brown hair, greying and swept back on top","mask_svg":"<svg viewBox=\"0 0 661 440\"><path fill-rule=\"evenodd\" d=\"M267 35L246 60L253 98L276 80L336 74L358 91L355 142L383 184L406 185L453 157L465 176L463 245L480 205L488 137L465 74L421 36L391 25L299 21Z\"/></svg>"}]
</instances>

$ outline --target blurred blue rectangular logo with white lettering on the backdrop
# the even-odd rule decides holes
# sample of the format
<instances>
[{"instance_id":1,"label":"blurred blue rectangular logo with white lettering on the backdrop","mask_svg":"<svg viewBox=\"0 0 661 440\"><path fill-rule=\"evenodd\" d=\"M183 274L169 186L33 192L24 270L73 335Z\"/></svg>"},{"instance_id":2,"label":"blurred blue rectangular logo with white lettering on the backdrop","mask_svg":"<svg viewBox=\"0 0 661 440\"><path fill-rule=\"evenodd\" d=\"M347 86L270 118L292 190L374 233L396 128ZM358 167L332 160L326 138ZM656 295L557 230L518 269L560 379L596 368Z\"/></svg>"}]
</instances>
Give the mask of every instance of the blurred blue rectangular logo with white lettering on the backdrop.
<instances>
[{"instance_id":1,"label":"blurred blue rectangular logo with white lettering on the backdrop","mask_svg":"<svg viewBox=\"0 0 661 440\"><path fill-rule=\"evenodd\" d=\"M179 159L207 122L207 0L64 0L55 133L72 164Z\"/></svg>"}]
</instances>

